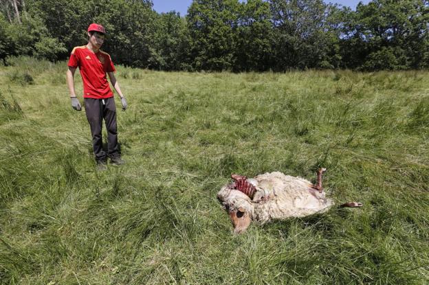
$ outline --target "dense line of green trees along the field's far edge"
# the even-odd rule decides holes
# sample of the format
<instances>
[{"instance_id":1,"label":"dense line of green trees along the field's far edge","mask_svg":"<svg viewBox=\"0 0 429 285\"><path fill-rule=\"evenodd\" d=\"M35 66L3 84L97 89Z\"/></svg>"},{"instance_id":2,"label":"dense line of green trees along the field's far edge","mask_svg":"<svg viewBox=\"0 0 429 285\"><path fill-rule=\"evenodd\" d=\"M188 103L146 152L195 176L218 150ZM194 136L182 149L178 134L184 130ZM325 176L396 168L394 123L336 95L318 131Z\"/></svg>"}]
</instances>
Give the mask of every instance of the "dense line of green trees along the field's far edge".
<instances>
[{"instance_id":1,"label":"dense line of green trees along the field's far edge","mask_svg":"<svg viewBox=\"0 0 429 285\"><path fill-rule=\"evenodd\" d=\"M108 32L117 64L173 71L429 67L429 0L193 0L186 15L151 0L0 0L0 58L65 60Z\"/></svg>"}]
</instances>

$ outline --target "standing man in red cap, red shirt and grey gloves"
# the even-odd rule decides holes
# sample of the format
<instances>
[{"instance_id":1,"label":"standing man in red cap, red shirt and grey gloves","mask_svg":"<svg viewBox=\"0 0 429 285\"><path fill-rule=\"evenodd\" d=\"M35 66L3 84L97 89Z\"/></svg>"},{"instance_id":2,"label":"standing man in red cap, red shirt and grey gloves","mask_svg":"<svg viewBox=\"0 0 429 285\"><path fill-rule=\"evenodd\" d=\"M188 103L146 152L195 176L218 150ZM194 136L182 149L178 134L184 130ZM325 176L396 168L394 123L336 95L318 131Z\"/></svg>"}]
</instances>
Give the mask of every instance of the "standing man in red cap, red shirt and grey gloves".
<instances>
[{"instance_id":1,"label":"standing man in red cap, red shirt and grey gloves","mask_svg":"<svg viewBox=\"0 0 429 285\"><path fill-rule=\"evenodd\" d=\"M72 107L81 111L82 107L74 91L74 72L79 67L83 80L83 98L85 102L85 113L89 126L91 127L92 144L98 170L107 169L107 157L114 165L124 163L120 157L118 146L118 133L116 131L116 106L113 92L107 81L106 73L110 82L120 95L122 110L126 110L126 100L116 81L115 67L109 54L102 52L100 47L104 43L106 31L102 25L92 23L88 27L89 40L87 45L74 47L69 59L67 70L67 85L72 98ZM107 128L107 153L102 149L102 120Z\"/></svg>"}]
</instances>

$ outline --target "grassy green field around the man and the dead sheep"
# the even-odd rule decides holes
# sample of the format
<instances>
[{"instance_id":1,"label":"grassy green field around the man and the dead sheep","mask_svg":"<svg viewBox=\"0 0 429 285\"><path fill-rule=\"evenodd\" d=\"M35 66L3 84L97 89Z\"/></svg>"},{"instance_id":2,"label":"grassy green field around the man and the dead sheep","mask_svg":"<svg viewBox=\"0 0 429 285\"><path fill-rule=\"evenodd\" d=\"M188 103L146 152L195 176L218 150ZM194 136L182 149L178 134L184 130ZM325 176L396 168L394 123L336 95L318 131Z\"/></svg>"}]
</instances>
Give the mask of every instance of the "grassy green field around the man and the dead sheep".
<instances>
[{"instance_id":1,"label":"grassy green field around the man and the dead sheep","mask_svg":"<svg viewBox=\"0 0 429 285\"><path fill-rule=\"evenodd\" d=\"M66 62L10 63L0 67L0 283L428 283L429 71L119 66L127 163L96 172ZM320 166L337 205L364 207L232 233L216 197L232 172L314 181Z\"/></svg>"}]
</instances>

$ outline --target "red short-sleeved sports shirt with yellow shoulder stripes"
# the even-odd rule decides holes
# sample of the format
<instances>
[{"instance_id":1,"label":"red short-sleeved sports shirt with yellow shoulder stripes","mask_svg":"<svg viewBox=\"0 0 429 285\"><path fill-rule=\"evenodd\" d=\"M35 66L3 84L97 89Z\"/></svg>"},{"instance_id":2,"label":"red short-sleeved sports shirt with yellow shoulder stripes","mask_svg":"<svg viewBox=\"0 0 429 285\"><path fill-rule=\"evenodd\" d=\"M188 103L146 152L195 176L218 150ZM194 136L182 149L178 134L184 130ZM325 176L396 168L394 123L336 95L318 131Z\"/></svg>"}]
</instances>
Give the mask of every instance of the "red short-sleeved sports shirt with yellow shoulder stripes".
<instances>
[{"instance_id":1,"label":"red short-sleeved sports shirt with yellow shoulder stripes","mask_svg":"<svg viewBox=\"0 0 429 285\"><path fill-rule=\"evenodd\" d=\"M69 59L69 67L79 67L83 80L83 98L105 99L113 97L107 72L114 72L115 67L109 54L98 50L91 52L86 45L75 47Z\"/></svg>"}]
</instances>

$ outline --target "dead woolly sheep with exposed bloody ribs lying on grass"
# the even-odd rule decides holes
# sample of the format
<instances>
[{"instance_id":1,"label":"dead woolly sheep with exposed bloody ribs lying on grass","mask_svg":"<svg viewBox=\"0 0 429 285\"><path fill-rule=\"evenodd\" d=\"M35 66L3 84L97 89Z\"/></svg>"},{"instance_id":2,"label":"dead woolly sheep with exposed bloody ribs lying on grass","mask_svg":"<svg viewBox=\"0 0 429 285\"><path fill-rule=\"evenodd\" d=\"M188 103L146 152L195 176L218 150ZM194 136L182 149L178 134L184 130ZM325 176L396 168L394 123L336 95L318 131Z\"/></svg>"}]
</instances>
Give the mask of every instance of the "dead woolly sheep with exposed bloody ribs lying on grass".
<instances>
[{"instance_id":1,"label":"dead woolly sheep with exposed bloody ribs lying on grass","mask_svg":"<svg viewBox=\"0 0 429 285\"><path fill-rule=\"evenodd\" d=\"M317 183L285 175L282 172L260 174L253 179L232 174L233 182L221 188L217 197L226 209L234 226L234 233L245 231L252 220L267 223L326 212L334 205L322 188L322 174L317 172ZM344 207L361 207L361 203L345 203Z\"/></svg>"}]
</instances>

